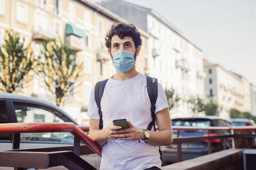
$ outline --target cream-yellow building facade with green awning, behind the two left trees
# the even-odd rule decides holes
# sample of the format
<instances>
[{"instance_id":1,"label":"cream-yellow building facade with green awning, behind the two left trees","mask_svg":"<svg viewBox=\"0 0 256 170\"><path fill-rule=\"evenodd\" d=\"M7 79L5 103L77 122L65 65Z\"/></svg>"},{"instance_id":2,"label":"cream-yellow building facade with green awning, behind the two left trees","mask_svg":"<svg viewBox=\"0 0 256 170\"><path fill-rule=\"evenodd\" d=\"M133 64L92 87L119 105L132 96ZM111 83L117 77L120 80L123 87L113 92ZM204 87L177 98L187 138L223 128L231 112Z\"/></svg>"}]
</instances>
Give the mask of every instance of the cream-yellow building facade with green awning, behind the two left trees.
<instances>
[{"instance_id":1,"label":"cream-yellow building facade with green awning, behind the two left trees","mask_svg":"<svg viewBox=\"0 0 256 170\"><path fill-rule=\"evenodd\" d=\"M82 83L76 84L74 92L61 107L79 123L86 120L85 113L94 84L115 74L115 68L105 46L106 31L113 22L122 22L114 13L97 3L85 0L0 0L0 44L5 31L13 30L34 41L34 54L41 55L41 42L46 38L60 38L77 51L77 60L84 64ZM138 70L148 73L150 35L140 30L142 47L137 57ZM145 45L144 45L145 44ZM38 75L31 75L30 86L16 91L18 94L38 97L54 103L54 96L47 90Z\"/></svg>"}]
</instances>

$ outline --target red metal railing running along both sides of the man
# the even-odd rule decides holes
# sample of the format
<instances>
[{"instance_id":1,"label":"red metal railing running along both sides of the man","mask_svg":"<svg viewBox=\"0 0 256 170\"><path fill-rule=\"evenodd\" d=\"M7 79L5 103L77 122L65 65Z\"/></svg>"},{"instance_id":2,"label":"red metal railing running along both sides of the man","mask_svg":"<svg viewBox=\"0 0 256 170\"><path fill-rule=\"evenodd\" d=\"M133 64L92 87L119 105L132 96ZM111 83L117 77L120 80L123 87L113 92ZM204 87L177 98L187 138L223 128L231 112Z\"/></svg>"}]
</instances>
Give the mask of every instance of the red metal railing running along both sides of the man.
<instances>
[{"instance_id":1,"label":"red metal railing running along both sides of the man","mask_svg":"<svg viewBox=\"0 0 256 170\"><path fill-rule=\"evenodd\" d=\"M173 144L178 145L178 159L181 160L181 143L189 141L208 140L209 154L211 153L211 139L234 138L234 130L256 130L256 126L231 126L231 127L191 127L191 126L173 126L173 130L178 130L177 138L174 138ZM230 130L230 135L213 135L205 137L179 138L179 130ZM0 133L45 133L45 132L70 132L81 140L96 154L101 156L101 147L95 143L84 132L89 132L88 126L76 126L74 123L5 123L0 124ZM234 146L233 146L234 147Z\"/></svg>"}]
</instances>

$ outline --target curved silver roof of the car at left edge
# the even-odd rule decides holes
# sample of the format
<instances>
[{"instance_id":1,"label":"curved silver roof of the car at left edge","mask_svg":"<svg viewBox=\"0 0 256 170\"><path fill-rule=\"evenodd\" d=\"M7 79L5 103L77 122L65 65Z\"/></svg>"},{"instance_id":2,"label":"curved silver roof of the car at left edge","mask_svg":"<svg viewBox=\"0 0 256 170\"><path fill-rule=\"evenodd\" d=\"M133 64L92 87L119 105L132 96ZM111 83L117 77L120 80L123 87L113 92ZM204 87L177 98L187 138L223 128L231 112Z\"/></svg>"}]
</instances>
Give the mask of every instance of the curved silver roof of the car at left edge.
<instances>
[{"instance_id":1,"label":"curved silver roof of the car at left edge","mask_svg":"<svg viewBox=\"0 0 256 170\"><path fill-rule=\"evenodd\" d=\"M6 92L0 92L0 99L14 99L14 100L25 100L25 101L32 101L35 103L43 104L46 106L53 107L57 111L60 111L63 115L69 118L70 121L73 121L75 124L78 124L69 114L67 114L65 111L63 111L60 107L57 105L53 105L47 101L34 98L34 97L27 97L27 96L21 96L21 95L15 95L15 94L10 94Z\"/></svg>"}]
</instances>

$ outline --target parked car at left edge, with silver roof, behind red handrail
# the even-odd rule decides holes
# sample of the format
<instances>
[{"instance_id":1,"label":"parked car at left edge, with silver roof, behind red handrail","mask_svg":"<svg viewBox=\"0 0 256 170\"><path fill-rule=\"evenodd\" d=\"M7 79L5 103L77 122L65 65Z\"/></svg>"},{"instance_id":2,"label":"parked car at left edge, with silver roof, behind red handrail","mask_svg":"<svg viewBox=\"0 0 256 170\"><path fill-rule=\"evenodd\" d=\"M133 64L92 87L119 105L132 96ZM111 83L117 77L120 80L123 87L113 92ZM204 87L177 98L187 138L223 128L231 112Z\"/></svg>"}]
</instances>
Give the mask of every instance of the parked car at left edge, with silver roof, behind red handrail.
<instances>
[{"instance_id":1,"label":"parked car at left edge, with silver roof, behind red handrail","mask_svg":"<svg viewBox=\"0 0 256 170\"><path fill-rule=\"evenodd\" d=\"M58 106L33 97L0 93L0 123L77 122ZM73 145L69 132L21 133L20 149ZM0 151L12 149L12 134L0 133Z\"/></svg>"}]
</instances>

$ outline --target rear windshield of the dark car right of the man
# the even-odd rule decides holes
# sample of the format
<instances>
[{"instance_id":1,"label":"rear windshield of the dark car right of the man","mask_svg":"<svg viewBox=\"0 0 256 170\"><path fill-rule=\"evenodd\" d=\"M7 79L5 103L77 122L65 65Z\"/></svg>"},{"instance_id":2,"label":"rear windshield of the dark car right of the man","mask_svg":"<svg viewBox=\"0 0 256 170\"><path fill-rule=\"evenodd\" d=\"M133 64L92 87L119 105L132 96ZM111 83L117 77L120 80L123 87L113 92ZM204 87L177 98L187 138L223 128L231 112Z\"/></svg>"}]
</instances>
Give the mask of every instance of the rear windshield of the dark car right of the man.
<instances>
[{"instance_id":1,"label":"rear windshield of the dark car right of the man","mask_svg":"<svg viewBox=\"0 0 256 170\"><path fill-rule=\"evenodd\" d=\"M202 121L202 120L180 120L180 121L172 121L173 126L195 126L195 127L209 127L210 126L210 120Z\"/></svg>"}]
</instances>

